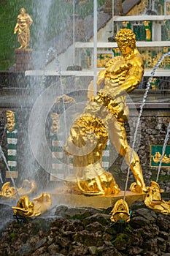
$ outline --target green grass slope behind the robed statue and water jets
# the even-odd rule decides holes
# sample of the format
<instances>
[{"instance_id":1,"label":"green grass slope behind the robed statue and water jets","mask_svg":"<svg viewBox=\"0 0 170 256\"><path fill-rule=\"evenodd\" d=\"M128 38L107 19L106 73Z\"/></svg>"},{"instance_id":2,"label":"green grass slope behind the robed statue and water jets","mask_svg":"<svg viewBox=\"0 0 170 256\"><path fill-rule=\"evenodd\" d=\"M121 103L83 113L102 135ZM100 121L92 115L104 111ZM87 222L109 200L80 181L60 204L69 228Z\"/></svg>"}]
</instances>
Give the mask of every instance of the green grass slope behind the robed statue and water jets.
<instances>
[{"instance_id":1,"label":"green grass slope behind the robed statue and water jets","mask_svg":"<svg viewBox=\"0 0 170 256\"><path fill-rule=\"evenodd\" d=\"M104 0L98 0L98 7L104 4ZM13 34L20 8L24 7L31 15L34 23L31 26L30 46L36 50L39 47L39 18L38 11L41 0L1 0L0 1L0 70L7 70L15 64L15 48L20 45L17 42L17 35ZM66 28L66 20L72 15L72 1L52 0L50 7L50 26L45 31L45 42L58 37ZM76 13L82 18L93 14L93 0L87 0L84 4L76 7Z\"/></svg>"}]
</instances>

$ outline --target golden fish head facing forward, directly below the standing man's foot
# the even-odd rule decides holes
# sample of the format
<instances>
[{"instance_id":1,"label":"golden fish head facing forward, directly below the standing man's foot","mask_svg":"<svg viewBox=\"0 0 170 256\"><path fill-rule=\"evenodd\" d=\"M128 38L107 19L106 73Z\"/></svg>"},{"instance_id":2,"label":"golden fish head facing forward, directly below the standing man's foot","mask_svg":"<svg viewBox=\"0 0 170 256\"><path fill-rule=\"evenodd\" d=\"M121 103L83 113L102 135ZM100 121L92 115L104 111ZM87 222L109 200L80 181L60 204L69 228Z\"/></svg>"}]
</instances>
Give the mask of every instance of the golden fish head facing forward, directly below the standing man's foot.
<instances>
[{"instance_id":1,"label":"golden fish head facing forward, directly below the standing man's foot","mask_svg":"<svg viewBox=\"0 0 170 256\"><path fill-rule=\"evenodd\" d=\"M123 199L117 200L110 214L112 214L110 218L112 222L129 222L131 217L128 203L125 201L123 203Z\"/></svg>"}]
</instances>

